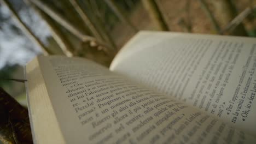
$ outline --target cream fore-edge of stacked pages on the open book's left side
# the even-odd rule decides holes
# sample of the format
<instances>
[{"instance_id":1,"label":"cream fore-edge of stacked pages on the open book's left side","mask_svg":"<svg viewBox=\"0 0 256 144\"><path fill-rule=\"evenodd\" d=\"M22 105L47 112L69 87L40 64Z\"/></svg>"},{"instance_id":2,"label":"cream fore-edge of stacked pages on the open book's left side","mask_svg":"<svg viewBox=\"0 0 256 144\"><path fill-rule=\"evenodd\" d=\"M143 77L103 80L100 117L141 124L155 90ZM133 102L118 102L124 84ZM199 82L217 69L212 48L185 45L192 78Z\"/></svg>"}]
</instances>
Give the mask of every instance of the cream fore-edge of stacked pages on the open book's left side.
<instances>
[{"instance_id":1,"label":"cream fore-edge of stacked pages on the open book's left side","mask_svg":"<svg viewBox=\"0 0 256 144\"><path fill-rule=\"evenodd\" d=\"M37 58L26 65L26 79L33 143L64 143Z\"/></svg>"}]
</instances>

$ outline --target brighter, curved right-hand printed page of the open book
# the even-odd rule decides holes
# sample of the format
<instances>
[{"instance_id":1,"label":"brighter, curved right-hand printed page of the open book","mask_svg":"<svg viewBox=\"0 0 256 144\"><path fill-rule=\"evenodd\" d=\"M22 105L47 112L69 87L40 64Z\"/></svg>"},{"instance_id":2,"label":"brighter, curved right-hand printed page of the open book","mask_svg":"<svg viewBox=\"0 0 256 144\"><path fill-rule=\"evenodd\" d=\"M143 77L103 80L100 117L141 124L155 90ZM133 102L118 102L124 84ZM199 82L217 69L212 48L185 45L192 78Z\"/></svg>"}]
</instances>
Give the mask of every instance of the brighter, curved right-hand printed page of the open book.
<instances>
[{"instance_id":1,"label":"brighter, curved right-hand printed page of the open book","mask_svg":"<svg viewBox=\"0 0 256 144\"><path fill-rule=\"evenodd\" d=\"M139 32L110 70L256 135L256 39Z\"/></svg>"}]
</instances>

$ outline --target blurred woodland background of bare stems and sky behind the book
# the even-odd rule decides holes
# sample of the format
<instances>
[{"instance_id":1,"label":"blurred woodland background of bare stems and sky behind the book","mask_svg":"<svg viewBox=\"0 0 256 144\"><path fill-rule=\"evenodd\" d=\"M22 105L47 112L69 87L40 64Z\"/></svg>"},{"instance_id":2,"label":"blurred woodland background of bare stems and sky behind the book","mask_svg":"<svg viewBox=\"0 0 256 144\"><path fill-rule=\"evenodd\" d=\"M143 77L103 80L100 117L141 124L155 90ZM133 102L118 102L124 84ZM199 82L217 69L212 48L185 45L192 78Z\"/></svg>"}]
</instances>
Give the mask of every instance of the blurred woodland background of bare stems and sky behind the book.
<instances>
[{"instance_id":1,"label":"blurred woodland background of bare stems and sky behind the book","mask_svg":"<svg viewBox=\"0 0 256 144\"><path fill-rule=\"evenodd\" d=\"M26 106L24 65L37 55L109 66L138 31L256 37L256 0L0 0L0 87Z\"/></svg>"}]
</instances>

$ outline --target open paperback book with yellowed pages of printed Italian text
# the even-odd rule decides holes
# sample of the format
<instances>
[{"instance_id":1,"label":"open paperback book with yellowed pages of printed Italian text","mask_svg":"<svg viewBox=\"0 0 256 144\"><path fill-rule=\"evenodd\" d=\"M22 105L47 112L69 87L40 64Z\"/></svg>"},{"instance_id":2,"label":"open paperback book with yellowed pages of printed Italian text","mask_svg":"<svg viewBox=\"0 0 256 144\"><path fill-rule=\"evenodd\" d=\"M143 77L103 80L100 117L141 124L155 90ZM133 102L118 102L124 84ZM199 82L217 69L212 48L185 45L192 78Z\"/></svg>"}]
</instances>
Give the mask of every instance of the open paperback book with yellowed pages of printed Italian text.
<instances>
[{"instance_id":1,"label":"open paperback book with yellowed pages of printed Italian text","mask_svg":"<svg viewBox=\"0 0 256 144\"><path fill-rule=\"evenodd\" d=\"M256 39L139 32L110 69L26 65L35 143L255 143Z\"/></svg>"}]
</instances>

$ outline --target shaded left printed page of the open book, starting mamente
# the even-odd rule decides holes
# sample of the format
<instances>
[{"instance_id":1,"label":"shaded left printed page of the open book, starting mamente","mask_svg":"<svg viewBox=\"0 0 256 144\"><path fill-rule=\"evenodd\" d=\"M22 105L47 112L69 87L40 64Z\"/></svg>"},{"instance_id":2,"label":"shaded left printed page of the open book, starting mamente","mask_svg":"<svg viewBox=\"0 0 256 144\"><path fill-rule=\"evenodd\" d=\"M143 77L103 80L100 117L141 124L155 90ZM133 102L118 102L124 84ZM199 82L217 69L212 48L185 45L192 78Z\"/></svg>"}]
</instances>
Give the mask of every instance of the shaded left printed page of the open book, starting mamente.
<instances>
[{"instance_id":1,"label":"shaded left printed page of the open book, starting mamente","mask_svg":"<svg viewBox=\"0 0 256 144\"><path fill-rule=\"evenodd\" d=\"M94 62L59 56L38 59L66 143L255 141L241 130Z\"/></svg>"}]
</instances>

